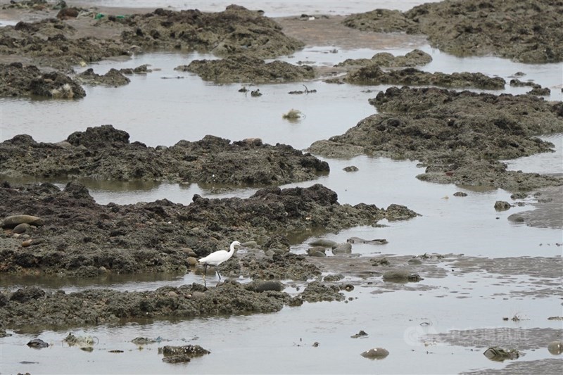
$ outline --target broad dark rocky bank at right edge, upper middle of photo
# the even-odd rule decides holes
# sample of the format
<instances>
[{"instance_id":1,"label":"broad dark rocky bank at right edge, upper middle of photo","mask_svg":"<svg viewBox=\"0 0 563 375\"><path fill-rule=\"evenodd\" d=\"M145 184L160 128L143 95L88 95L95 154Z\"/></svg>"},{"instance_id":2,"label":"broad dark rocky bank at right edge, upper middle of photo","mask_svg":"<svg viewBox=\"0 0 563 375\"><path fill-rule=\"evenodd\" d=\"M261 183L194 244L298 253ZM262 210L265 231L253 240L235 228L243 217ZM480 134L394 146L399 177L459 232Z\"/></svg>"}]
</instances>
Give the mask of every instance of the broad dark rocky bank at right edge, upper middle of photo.
<instances>
[{"instance_id":1,"label":"broad dark rocky bank at right edge, upper middle of photo","mask_svg":"<svg viewBox=\"0 0 563 375\"><path fill-rule=\"evenodd\" d=\"M553 145L536 136L563 132L561 103L530 95L409 87L391 87L370 103L379 114L309 150L332 157L368 153L420 160L426 171L417 178L429 182L508 191L562 184L554 176L507 171L499 161L549 152Z\"/></svg>"}]
</instances>

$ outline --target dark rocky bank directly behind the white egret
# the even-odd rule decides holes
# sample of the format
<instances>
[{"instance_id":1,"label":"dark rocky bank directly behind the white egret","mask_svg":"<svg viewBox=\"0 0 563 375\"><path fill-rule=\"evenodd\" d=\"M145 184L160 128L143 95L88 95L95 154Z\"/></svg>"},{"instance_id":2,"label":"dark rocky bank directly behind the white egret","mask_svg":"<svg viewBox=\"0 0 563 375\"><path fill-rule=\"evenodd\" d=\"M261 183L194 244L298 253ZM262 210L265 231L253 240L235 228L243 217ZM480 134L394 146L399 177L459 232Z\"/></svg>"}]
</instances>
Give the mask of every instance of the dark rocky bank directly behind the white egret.
<instances>
[{"instance_id":1,"label":"dark rocky bank directly behind the white egret","mask_svg":"<svg viewBox=\"0 0 563 375\"><path fill-rule=\"evenodd\" d=\"M289 232L338 231L417 215L400 205L387 209L363 203L341 205L337 198L334 191L317 184L307 189L270 187L246 199L196 195L189 205L167 200L99 205L75 182L62 191L48 183L4 182L0 187L4 214L0 272L81 277L106 272L186 272L193 264L189 257L201 258L238 239L255 241L253 248L263 252L272 250L265 253L266 258L255 258L253 267L262 274L307 279L318 271L305 264L303 257L288 254L285 236ZM40 221L27 220L27 226L16 229L18 222L8 220L12 215L32 215ZM236 256L229 262L236 263Z\"/></svg>"}]
</instances>

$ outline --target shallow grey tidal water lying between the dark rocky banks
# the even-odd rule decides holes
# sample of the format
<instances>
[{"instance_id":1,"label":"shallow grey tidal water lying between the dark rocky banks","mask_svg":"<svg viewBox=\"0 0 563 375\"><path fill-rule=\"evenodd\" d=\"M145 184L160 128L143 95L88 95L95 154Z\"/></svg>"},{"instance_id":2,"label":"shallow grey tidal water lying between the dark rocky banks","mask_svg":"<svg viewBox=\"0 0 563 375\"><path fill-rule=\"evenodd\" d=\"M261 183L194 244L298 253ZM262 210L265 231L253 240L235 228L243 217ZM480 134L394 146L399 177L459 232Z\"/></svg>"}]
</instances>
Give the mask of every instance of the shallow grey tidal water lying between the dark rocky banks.
<instances>
[{"instance_id":1,"label":"shallow grey tidal water lying between the dark rocky banks","mask_svg":"<svg viewBox=\"0 0 563 375\"><path fill-rule=\"evenodd\" d=\"M391 4L389 1L380 3ZM272 12L275 11L279 8L272 8ZM422 70L482 72L507 81L514 73L524 72L526 80L552 89L546 100L560 101L563 98L560 64L524 65L490 57L455 58L425 44L398 46L385 51L399 55L414 48L422 49L434 58ZM345 50L336 46L334 53L334 49L334 46L307 46L284 60L334 65L346 58L369 58L381 52ZM319 80L305 82L308 89L316 89L316 93L289 95L288 91L303 89L301 82L265 84L260 85L263 95L253 98L238 92L242 84L203 82L195 75L174 70L177 65L185 65L195 58L213 56L151 53L127 61L96 63L91 68L99 74L110 68L134 68L141 64L150 64L153 72L130 77L131 82L125 87L85 87L87 96L80 101L0 99L0 141L17 134L30 134L36 141L56 142L72 132L84 131L86 127L112 124L127 131L131 141L141 141L148 146L171 146L182 139L197 141L205 134L213 134L232 141L259 137L268 144L289 144L305 149L319 139L343 134L363 118L376 113L368 99L388 87L334 85ZM85 68L77 68L77 72L80 69ZM527 89L512 88L507 84L505 91L491 92L524 94ZM305 117L298 122L284 120L281 116L293 108L301 110ZM562 173L563 134L543 138L555 144L554 153L508 160L510 169ZM56 331L8 330L12 336L0 338L0 373L453 374L503 369L508 362L548 359L559 360L563 366L562 356L552 355L547 349L549 341L561 341L563 336L562 322L548 320L548 317L563 316L560 288L563 274L538 277L521 267L517 274L507 275L487 270L484 266L492 259L524 257L530 258L530 264L538 257L552 259L553 267L560 265L561 229L527 227L507 220L515 212L532 210L533 198L519 200L524 202L523 206L497 212L493 207L495 201L514 203L509 192L421 182L416 175L423 170L415 161L368 156L323 160L331 167L329 175L281 187L320 183L336 191L341 204L369 203L386 208L396 203L407 205L421 216L405 222L380 222L384 227L297 234L293 239L293 252L305 253L308 242L313 239L346 242L357 236L386 239L388 243L384 246L355 244L352 255L341 256L342 262L374 256L393 260L394 257L425 253L450 254L478 258L483 269L457 272L449 260L444 260L438 267L444 269L445 276L425 277L418 283L396 286L384 283L377 275L347 275L341 282L353 283L355 289L345 293L346 302L305 303L301 307L284 307L272 314L124 322L116 326L80 329L63 327ZM349 165L358 167L358 172L343 171ZM56 183L65 184L63 181ZM101 204L162 198L189 204L194 194L244 198L255 192L251 188L198 184L84 183ZM468 195L453 196L457 191ZM194 282L201 283L201 277L194 273L88 280L2 277L0 287L13 290L37 285L70 293L84 288L143 291ZM216 280L208 280L208 286L213 287L214 282ZM303 289L297 282L285 283L288 293L300 293ZM509 319L504 320L505 317ZM473 329L481 331L477 336L464 336L464 332ZM545 336L534 336L537 334L534 329L544 329ZM368 333L367 336L350 337L360 330ZM63 343L69 332L95 338L93 350L88 352ZM453 332L460 336L459 340L441 341L436 336ZM131 343L138 336L156 338L158 343ZM28 348L26 343L36 337L50 343L49 348ZM515 347L521 342L533 345L522 350L524 356L518 360L493 362L483 355L483 351L489 343L495 342L514 343ZM201 345L211 353L187 364L162 362L158 347L187 344ZM390 352L388 357L369 360L360 355L377 347L386 348Z\"/></svg>"}]
</instances>

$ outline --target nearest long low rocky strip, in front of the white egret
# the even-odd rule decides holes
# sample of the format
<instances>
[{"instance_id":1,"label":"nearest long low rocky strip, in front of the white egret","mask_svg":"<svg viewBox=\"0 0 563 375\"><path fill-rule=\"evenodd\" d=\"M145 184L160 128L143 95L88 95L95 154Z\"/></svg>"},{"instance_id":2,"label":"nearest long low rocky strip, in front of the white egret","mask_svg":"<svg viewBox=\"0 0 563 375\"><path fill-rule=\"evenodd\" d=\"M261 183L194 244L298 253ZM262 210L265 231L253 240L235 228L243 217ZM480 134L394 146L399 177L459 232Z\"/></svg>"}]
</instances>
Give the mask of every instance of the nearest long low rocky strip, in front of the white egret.
<instances>
[{"instance_id":1,"label":"nearest long low rocky strip, in front of the white egret","mask_svg":"<svg viewBox=\"0 0 563 375\"><path fill-rule=\"evenodd\" d=\"M247 290L236 281L215 288L201 284L179 288L163 286L156 291L123 293L110 289L91 289L77 293L43 291L37 286L0 292L4 305L0 319L5 326L33 329L118 323L122 319L170 319L210 314L275 312L291 303L284 292L260 293ZM30 298L14 298L30 295Z\"/></svg>"}]
</instances>

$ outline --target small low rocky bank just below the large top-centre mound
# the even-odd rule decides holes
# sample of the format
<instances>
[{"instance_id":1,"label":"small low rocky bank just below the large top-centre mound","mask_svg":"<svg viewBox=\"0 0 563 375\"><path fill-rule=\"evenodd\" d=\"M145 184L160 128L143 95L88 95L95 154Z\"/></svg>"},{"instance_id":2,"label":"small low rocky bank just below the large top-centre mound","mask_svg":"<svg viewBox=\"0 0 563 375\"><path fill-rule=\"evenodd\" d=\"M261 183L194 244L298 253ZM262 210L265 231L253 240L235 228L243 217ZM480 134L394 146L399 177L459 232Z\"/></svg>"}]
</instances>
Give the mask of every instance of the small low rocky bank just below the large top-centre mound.
<instances>
[{"instance_id":1,"label":"small low rocky bank just below the large top-centre mound","mask_svg":"<svg viewBox=\"0 0 563 375\"><path fill-rule=\"evenodd\" d=\"M309 65L292 65L284 61L265 63L260 58L232 56L222 60L194 60L175 70L196 73L205 81L217 83L281 83L310 80L315 70Z\"/></svg>"}]
</instances>

